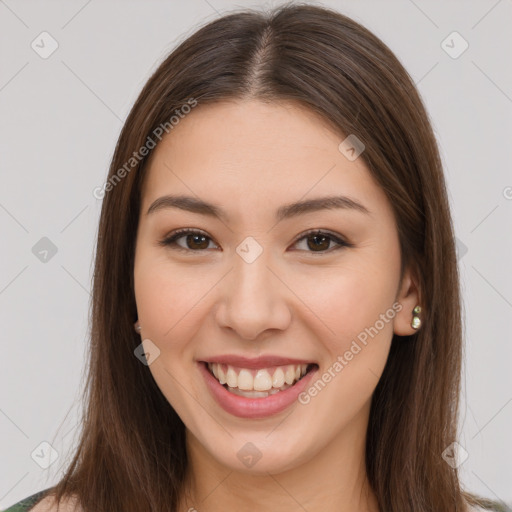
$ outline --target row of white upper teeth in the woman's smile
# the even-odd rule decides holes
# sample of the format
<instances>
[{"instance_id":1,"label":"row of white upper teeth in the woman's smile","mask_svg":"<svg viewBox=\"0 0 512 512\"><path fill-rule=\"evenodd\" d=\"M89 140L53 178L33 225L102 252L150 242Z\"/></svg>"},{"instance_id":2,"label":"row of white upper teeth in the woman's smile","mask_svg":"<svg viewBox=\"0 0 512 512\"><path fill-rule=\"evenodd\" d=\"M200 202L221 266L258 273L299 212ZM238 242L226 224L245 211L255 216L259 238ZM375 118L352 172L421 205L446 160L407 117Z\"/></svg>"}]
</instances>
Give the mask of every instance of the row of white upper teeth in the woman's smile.
<instances>
[{"instance_id":1,"label":"row of white upper teeth in the woman's smile","mask_svg":"<svg viewBox=\"0 0 512 512\"><path fill-rule=\"evenodd\" d=\"M306 374L307 364L289 364L249 370L220 363L208 363L208 368L221 384L245 391L268 391L292 385Z\"/></svg>"}]
</instances>

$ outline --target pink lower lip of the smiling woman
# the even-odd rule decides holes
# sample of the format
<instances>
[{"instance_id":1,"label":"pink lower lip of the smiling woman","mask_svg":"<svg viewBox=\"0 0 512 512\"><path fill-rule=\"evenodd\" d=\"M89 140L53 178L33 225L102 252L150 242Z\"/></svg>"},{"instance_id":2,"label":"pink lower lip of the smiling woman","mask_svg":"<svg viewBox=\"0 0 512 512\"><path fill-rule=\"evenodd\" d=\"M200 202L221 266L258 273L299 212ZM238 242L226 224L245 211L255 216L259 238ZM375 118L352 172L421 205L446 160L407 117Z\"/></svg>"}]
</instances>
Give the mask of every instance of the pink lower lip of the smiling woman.
<instances>
[{"instance_id":1,"label":"pink lower lip of the smiling woman","mask_svg":"<svg viewBox=\"0 0 512 512\"><path fill-rule=\"evenodd\" d=\"M284 391L266 398L246 398L230 393L208 370L206 363L199 362L199 371L203 374L208 389L217 403L227 412L240 418L266 418L292 405L300 393L306 389L317 372L318 367L309 371L301 380Z\"/></svg>"}]
</instances>

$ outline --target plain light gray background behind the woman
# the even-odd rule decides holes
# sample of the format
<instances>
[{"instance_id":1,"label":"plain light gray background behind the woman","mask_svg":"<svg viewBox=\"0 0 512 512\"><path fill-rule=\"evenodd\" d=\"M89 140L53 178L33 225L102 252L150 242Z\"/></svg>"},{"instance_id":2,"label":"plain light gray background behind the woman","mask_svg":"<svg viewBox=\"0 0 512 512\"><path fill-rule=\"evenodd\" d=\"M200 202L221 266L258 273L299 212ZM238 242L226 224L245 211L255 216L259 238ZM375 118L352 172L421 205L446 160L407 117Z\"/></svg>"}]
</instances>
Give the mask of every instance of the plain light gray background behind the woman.
<instances>
[{"instance_id":1,"label":"plain light gray background behind the woman","mask_svg":"<svg viewBox=\"0 0 512 512\"><path fill-rule=\"evenodd\" d=\"M76 441L101 206L92 191L140 88L199 23L278 3L0 0L0 508L55 483ZM431 115L465 304L462 478L512 502L512 0L323 5L390 46ZM43 31L58 43L46 59L31 47L51 47ZM458 58L458 36L442 45L453 31L469 44ZM46 261L43 237L57 249ZM47 469L45 441L58 453Z\"/></svg>"}]
</instances>

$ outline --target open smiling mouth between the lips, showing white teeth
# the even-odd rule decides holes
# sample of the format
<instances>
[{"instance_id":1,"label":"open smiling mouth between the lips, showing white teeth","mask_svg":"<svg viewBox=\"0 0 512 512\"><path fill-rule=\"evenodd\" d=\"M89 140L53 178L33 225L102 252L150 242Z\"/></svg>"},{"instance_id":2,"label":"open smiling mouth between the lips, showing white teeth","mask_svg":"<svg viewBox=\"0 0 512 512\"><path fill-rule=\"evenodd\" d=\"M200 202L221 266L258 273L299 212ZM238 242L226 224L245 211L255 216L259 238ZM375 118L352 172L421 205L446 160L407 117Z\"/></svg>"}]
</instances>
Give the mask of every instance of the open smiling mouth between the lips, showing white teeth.
<instances>
[{"instance_id":1,"label":"open smiling mouth between the lips, showing white teeth","mask_svg":"<svg viewBox=\"0 0 512 512\"><path fill-rule=\"evenodd\" d=\"M245 398L267 398L284 391L318 368L316 363L287 364L269 368L240 368L204 362L211 375L230 393Z\"/></svg>"}]
</instances>

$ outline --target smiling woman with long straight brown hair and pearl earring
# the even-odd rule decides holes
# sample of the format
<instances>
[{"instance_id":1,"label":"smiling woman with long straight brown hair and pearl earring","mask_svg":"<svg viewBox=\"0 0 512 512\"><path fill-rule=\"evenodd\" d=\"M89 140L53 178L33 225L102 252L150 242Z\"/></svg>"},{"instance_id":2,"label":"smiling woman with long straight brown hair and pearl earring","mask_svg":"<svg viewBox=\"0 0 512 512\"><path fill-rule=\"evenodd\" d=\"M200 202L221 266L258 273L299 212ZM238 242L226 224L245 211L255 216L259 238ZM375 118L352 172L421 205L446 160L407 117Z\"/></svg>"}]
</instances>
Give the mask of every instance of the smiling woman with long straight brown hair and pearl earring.
<instances>
[{"instance_id":1,"label":"smiling woman with long straight brown hair and pearl earring","mask_svg":"<svg viewBox=\"0 0 512 512\"><path fill-rule=\"evenodd\" d=\"M97 194L80 444L18 509L506 510L458 479L442 167L368 30L308 5L207 24Z\"/></svg>"}]
</instances>

